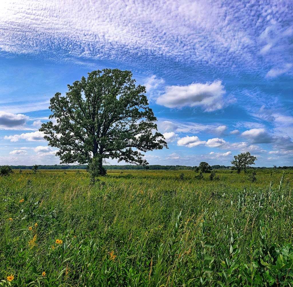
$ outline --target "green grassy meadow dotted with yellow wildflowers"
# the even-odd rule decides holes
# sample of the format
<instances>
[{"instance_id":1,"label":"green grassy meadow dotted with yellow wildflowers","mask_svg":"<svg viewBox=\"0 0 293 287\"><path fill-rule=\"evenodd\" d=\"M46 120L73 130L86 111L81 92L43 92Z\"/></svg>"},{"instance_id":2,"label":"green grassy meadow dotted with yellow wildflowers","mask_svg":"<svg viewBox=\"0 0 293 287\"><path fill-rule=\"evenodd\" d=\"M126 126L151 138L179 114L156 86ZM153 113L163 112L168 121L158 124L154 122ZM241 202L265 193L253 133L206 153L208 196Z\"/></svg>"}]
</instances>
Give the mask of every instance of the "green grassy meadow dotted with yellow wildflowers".
<instances>
[{"instance_id":1,"label":"green grassy meadow dotted with yellow wildflowers","mask_svg":"<svg viewBox=\"0 0 293 287\"><path fill-rule=\"evenodd\" d=\"M0 177L0 286L293 286L292 170L197 175Z\"/></svg>"}]
</instances>

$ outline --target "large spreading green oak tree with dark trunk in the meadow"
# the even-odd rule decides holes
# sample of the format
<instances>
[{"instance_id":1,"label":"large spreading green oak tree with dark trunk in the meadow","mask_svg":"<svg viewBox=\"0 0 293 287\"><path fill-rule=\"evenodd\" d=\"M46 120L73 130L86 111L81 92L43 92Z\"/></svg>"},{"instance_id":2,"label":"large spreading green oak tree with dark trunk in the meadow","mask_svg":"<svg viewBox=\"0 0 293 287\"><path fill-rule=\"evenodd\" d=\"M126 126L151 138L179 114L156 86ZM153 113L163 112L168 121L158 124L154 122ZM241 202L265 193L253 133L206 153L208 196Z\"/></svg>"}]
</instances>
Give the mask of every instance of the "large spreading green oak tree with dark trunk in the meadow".
<instances>
[{"instance_id":1,"label":"large spreading green oak tree with dark trunk in the meadow","mask_svg":"<svg viewBox=\"0 0 293 287\"><path fill-rule=\"evenodd\" d=\"M61 163L88 164L94 181L106 173L106 159L145 166L141 152L168 148L157 132L146 89L135 85L130 71L93 71L67 87L65 96L58 92L50 100L49 119L57 123L40 128L49 145L59 149Z\"/></svg>"}]
</instances>

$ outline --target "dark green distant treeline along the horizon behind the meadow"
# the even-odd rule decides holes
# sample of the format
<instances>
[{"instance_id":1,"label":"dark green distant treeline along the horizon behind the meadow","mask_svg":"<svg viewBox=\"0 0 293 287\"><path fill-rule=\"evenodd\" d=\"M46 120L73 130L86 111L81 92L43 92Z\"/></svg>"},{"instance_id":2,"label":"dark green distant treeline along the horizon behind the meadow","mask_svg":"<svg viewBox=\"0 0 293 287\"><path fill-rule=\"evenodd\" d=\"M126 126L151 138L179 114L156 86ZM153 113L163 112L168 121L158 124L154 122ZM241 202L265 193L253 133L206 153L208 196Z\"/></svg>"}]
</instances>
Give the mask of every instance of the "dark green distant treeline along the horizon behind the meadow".
<instances>
[{"instance_id":1,"label":"dark green distant treeline along the horizon behind the meadow","mask_svg":"<svg viewBox=\"0 0 293 287\"><path fill-rule=\"evenodd\" d=\"M11 165L11 169L32 169L33 166L27 166L27 165ZM86 165L40 165L39 169L86 169ZM145 169L145 167L141 165L105 165L105 169ZM212 169L231 169L231 166L225 166L225 165L212 165ZM272 167L251 167L253 169L272 169ZM275 167L277 169L293 169L293 167ZM148 165L147 169L155 169L155 170L181 170L181 169L196 169L196 166L189 167L185 165Z\"/></svg>"}]
</instances>

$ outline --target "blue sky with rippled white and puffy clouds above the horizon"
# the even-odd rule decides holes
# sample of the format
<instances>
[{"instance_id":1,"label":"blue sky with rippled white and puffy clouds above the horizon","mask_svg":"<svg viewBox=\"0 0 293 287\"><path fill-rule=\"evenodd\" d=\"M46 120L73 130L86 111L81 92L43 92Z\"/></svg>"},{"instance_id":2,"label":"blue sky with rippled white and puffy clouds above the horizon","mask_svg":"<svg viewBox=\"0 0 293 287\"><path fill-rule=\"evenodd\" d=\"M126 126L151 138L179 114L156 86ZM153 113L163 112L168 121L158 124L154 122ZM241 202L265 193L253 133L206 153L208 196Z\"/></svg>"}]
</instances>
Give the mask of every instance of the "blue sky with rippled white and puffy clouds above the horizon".
<instances>
[{"instance_id":1,"label":"blue sky with rippled white and puffy clouds above the horizon","mask_svg":"<svg viewBox=\"0 0 293 287\"><path fill-rule=\"evenodd\" d=\"M149 164L231 165L249 151L256 166L293 166L292 4L0 1L0 165L59 164L38 131L50 98L118 68L146 86L168 142Z\"/></svg>"}]
</instances>

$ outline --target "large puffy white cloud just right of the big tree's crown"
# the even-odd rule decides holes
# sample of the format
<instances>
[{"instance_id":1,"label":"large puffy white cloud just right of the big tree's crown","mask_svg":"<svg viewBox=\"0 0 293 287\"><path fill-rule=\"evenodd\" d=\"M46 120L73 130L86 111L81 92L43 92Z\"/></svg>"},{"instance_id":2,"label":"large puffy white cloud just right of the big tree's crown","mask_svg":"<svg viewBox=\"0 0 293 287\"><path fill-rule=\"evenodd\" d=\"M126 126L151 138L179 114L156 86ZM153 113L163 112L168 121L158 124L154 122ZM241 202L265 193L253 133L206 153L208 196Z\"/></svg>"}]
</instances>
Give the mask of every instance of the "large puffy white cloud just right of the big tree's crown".
<instances>
[{"instance_id":1,"label":"large puffy white cloud just right of the big tree's crown","mask_svg":"<svg viewBox=\"0 0 293 287\"><path fill-rule=\"evenodd\" d=\"M167 86L166 92L158 97L156 103L168 108L200 106L205 111L223 108L223 95L226 93L221 81L209 84L193 83L188 86Z\"/></svg>"}]
</instances>

